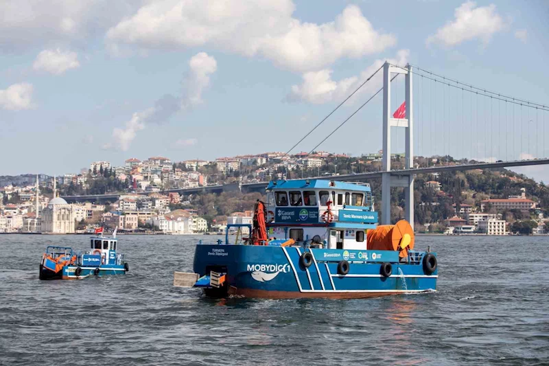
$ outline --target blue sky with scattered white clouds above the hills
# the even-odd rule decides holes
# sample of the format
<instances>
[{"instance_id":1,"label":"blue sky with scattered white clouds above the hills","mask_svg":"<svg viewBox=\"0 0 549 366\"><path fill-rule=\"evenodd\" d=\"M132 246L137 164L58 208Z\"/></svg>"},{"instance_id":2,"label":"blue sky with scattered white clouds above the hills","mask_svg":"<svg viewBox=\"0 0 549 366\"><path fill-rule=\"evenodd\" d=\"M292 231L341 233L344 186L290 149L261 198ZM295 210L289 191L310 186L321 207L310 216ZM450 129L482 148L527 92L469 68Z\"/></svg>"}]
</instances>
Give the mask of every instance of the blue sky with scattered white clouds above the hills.
<instances>
[{"instance_id":1,"label":"blue sky with scattered white clouds above the hills","mask_svg":"<svg viewBox=\"0 0 549 366\"><path fill-rule=\"evenodd\" d=\"M542 0L3 1L0 174L286 151L386 59L549 104L546 19ZM513 123L508 106L504 122L481 99L487 109L473 109L481 117L471 122L467 95L462 113L452 89L443 112L416 79L417 155L549 156L549 112L536 121L524 109L521 122L515 111ZM313 148L379 81L296 150ZM395 83L401 100L404 82ZM375 152L381 118L379 95L319 149ZM402 150L404 133L393 134ZM549 181L547 167L521 172Z\"/></svg>"}]
</instances>

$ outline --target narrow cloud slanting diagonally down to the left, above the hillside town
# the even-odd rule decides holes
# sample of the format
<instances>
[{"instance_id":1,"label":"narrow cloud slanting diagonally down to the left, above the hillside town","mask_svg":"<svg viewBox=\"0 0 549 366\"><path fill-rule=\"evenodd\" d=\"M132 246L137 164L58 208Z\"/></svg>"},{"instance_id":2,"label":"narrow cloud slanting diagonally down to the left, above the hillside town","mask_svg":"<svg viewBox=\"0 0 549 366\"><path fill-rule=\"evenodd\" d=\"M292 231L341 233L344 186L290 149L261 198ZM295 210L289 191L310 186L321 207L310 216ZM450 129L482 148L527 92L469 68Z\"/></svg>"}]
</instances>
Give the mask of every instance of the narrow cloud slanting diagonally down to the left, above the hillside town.
<instances>
[{"instance_id":1,"label":"narrow cloud slanting diagonally down to the left, above the hillside town","mask_svg":"<svg viewBox=\"0 0 549 366\"><path fill-rule=\"evenodd\" d=\"M114 147L127 151L130 144L137 136L139 130L143 130L148 123L163 123L174 113L187 110L202 103L202 92L208 87L211 74L215 73L218 65L215 58L200 52L189 60L189 72L183 82L183 92L180 98L166 94L154 103L154 106L142 112L136 112L126 122L125 128L113 130ZM181 141L181 140L180 140ZM185 140L189 143L190 140ZM112 144L106 144L104 148L111 148Z\"/></svg>"}]
</instances>

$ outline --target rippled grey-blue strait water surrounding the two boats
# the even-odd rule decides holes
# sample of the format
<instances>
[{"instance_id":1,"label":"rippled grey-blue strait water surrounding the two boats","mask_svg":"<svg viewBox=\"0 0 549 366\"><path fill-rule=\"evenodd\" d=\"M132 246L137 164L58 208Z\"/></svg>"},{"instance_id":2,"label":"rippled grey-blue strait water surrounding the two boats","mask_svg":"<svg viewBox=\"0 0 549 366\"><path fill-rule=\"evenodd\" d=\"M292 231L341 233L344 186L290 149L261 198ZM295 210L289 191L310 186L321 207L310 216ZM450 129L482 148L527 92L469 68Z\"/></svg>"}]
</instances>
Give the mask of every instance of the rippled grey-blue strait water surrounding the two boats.
<instances>
[{"instance_id":1,"label":"rippled grey-blue strait water surrounding the two boats","mask_svg":"<svg viewBox=\"0 0 549 366\"><path fill-rule=\"evenodd\" d=\"M439 255L438 292L343 301L174 288L202 238L121 236L127 275L40 282L46 241L86 238L0 236L0 365L549 363L547 238L419 236Z\"/></svg>"}]
</instances>

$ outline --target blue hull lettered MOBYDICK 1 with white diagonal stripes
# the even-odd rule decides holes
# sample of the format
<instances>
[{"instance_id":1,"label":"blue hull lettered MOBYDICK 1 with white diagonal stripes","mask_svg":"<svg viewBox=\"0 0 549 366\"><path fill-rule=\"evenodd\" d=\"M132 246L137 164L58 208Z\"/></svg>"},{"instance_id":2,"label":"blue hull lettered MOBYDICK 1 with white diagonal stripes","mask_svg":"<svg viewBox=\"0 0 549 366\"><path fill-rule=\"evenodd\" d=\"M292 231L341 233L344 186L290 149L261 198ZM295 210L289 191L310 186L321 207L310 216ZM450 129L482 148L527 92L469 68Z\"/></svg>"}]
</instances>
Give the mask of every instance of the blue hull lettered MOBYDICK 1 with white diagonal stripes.
<instances>
[{"instance_id":1,"label":"blue hull lettered MOBYDICK 1 with white diagonal stripes","mask_svg":"<svg viewBox=\"0 0 549 366\"><path fill-rule=\"evenodd\" d=\"M305 268L301 255L312 253ZM421 253L423 255L423 253ZM349 272L338 274L338 263L349 262ZM389 262L392 274L380 273ZM194 272L226 273L224 288L207 288L207 295L226 293L247 297L357 298L436 290L438 269L425 273L421 261L400 264L392 251L343 251L300 247L198 244Z\"/></svg>"}]
</instances>

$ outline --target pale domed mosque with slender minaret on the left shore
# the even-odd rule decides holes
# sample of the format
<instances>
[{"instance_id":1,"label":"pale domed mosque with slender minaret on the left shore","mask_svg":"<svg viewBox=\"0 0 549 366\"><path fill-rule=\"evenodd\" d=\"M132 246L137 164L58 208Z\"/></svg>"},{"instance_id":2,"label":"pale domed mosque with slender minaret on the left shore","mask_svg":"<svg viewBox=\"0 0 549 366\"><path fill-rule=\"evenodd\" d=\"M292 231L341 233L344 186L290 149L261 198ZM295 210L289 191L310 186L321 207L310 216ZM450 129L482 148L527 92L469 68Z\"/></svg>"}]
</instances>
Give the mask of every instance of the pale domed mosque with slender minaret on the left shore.
<instances>
[{"instance_id":1,"label":"pale domed mosque with slender minaret on the left shore","mask_svg":"<svg viewBox=\"0 0 549 366\"><path fill-rule=\"evenodd\" d=\"M57 196L56 179L54 177L54 199L40 212L40 230L43 233L74 233L75 221L73 205Z\"/></svg>"}]
</instances>

